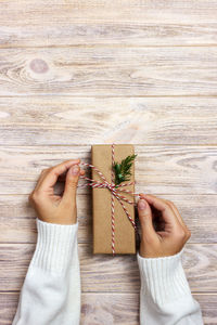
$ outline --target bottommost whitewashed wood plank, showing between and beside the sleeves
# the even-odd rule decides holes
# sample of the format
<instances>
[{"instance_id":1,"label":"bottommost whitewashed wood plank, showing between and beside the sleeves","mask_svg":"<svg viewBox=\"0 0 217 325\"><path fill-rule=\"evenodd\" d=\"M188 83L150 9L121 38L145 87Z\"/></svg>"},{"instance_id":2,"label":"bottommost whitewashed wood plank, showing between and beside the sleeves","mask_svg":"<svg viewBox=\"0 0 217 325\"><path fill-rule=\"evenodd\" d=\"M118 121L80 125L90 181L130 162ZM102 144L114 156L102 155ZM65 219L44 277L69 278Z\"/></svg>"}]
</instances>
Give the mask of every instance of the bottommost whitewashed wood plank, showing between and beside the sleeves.
<instances>
[{"instance_id":1,"label":"bottommost whitewashed wood plank, showing between and beside the sleeves","mask_svg":"<svg viewBox=\"0 0 217 325\"><path fill-rule=\"evenodd\" d=\"M204 325L217 323L217 295L194 295L202 308ZM0 294L0 323L11 325L18 302L18 292ZM138 294L82 294L81 324L139 325ZM126 321L127 320L127 321Z\"/></svg>"}]
</instances>

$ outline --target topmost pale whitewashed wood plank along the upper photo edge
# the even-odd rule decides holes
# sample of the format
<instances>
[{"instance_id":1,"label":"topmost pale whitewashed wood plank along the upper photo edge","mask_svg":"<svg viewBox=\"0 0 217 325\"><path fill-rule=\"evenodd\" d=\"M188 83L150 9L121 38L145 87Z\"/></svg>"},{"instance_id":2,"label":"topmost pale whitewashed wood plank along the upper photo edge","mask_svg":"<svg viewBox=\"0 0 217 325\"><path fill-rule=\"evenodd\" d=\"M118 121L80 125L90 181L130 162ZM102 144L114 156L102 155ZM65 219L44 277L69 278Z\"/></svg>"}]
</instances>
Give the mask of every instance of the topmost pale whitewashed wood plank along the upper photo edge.
<instances>
[{"instance_id":1,"label":"topmost pale whitewashed wood plank along the upper photo edge","mask_svg":"<svg viewBox=\"0 0 217 325\"><path fill-rule=\"evenodd\" d=\"M12 0L0 4L0 47L216 44L215 1Z\"/></svg>"}]
</instances>

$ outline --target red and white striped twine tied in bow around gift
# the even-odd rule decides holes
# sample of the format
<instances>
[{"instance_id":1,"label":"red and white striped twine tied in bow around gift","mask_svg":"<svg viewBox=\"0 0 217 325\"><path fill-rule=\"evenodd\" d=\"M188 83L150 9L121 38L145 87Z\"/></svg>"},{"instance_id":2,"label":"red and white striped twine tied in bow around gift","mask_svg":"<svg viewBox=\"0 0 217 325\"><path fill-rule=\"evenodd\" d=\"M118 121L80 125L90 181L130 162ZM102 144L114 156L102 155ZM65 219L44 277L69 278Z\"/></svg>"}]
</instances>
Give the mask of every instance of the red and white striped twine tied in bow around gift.
<instances>
[{"instance_id":1,"label":"red and white striped twine tied in bow around gift","mask_svg":"<svg viewBox=\"0 0 217 325\"><path fill-rule=\"evenodd\" d=\"M114 165L115 161L115 144L112 144L112 166ZM115 185L114 181L115 181L115 176L114 176L114 171L112 169L112 182L108 183L105 179L105 177L103 176L103 173L93 165L91 164L87 164L87 162L80 162L80 165L87 166L92 168L102 179L103 182L99 182L92 179L89 179L85 176L80 176L81 179L85 179L88 181L88 183L82 184L81 186L79 185L79 187L82 186L92 186L92 187L99 187L99 188L107 188L111 191L112 194L112 205L111 205L111 214L112 214L112 253L113 256L115 255L115 197L117 199L117 202L119 202L119 204L122 205L127 218L129 219L131 225L135 227L135 231L137 231L137 226L136 223L133 221L133 219L130 217L126 206L124 205L124 202L127 202L130 205L136 206L137 204L132 200L129 200L127 197L125 197L124 195L119 194L118 192L124 192L124 193L129 193L132 196L139 196L139 194L133 193L129 190L126 188L119 188L119 187L124 187L124 186L129 186L135 184L135 182L129 182L129 183L125 183L125 184L119 184L119 185Z\"/></svg>"}]
</instances>

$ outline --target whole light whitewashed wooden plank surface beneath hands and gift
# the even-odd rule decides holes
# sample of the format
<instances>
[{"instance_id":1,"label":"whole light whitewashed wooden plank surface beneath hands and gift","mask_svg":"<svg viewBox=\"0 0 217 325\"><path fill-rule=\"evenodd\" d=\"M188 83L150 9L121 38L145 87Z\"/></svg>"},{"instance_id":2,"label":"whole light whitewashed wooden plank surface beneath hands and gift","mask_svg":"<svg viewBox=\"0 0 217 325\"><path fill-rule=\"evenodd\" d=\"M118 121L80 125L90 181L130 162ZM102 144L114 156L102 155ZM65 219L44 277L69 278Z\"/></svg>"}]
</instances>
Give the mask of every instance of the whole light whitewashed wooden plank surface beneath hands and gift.
<instances>
[{"instance_id":1,"label":"whole light whitewashed wooden plank surface beneath hands and gift","mask_svg":"<svg viewBox=\"0 0 217 325\"><path fill-rule=\"evenodd\" d=\"M0 1L0 324L33 256L42 168L132 143L136 190L171 199L192 236L183 266L217 324L217 1ZM56 192L63 184L59 184ZM135 256L92 256L78 190L82 325L138 325Z\"/></svg>"}]
</instances>

